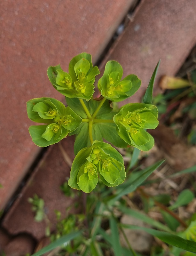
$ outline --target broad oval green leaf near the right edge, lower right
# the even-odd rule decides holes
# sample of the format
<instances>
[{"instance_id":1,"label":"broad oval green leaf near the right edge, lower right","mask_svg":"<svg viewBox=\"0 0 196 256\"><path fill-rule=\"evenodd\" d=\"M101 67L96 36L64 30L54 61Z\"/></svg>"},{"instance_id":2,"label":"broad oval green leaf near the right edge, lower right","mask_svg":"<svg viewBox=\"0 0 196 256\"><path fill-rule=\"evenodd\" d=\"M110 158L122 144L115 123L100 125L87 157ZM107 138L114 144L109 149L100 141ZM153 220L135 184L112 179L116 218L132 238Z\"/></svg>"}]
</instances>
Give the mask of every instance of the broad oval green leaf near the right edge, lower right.
<instances>
[{"instance_id":1,"label":"broad oval green leaf near the right edge, lower right","mask_svg":"<svg viewBox=\"0 0 196 256\"><path fill-rule=\"evenodd\" d=\"M194 198L194 194L189 189L184 189L178 196L176 202L169 206L170 210L174 210L180 206L187 205L190 203Z\"/></svg>"}]
</instances>

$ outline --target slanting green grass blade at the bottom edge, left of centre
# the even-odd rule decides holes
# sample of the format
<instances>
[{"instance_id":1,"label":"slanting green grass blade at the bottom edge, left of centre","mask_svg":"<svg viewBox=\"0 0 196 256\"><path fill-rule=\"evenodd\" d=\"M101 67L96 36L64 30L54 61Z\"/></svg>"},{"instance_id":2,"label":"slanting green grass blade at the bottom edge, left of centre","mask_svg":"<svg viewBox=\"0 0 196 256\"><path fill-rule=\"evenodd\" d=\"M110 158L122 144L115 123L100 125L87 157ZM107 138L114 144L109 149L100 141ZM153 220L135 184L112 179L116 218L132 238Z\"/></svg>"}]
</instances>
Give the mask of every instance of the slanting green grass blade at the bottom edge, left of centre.
<instances>
[{"instance_id":1,"label":"slanting green grass blade at the bottom edge, left of centre","mask_svg":"<svg viewBox=\"0 0 196 256\"><path fill-rule=\"evenodd\" d=\"M46 252L50 252L51 250L57 248L58 246L61 246L65 243L68 244L72 239L79 236L80 234L81 234L81 231L78 231L78 232L70 233L65 236L61 236L59 239L57 239L56 241L52 242L51 244L45 246L39 252L34 253L32 256L40 256Z\"/></svg>"}]
</instances>

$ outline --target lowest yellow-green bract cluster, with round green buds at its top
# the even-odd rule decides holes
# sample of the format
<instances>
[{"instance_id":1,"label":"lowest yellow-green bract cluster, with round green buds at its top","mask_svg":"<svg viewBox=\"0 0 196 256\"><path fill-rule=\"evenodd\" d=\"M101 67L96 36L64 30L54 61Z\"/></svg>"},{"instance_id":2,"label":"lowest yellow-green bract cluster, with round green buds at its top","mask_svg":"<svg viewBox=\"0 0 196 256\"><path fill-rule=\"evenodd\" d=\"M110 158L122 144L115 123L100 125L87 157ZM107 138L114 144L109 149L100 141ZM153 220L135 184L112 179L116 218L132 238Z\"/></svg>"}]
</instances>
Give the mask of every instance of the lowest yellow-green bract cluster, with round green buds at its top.
<instances>
[{"instance_id":1,"label":"lowest yellow-green bract cluster, with round green buds at its top","mask_svg":"<svg viewBox=\"0 0 196 256\"><path fill-rule=\"evenodd\" d=\"M95 140L75 156L68 184L89 193L96 187L98 175L108 187L121 184L126 176L121 154L110 144Z\"/></svg>"}]
</instances>

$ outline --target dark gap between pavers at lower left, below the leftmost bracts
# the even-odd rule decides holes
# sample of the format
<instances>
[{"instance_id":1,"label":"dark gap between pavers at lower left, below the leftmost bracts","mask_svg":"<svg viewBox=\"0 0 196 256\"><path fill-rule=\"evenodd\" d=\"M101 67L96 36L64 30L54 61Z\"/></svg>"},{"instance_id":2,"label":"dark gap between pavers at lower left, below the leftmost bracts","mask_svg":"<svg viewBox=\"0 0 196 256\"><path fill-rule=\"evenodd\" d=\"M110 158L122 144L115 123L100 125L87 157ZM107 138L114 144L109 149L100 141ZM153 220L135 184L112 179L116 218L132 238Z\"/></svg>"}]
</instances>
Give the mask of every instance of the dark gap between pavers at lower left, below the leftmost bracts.
<instances>
[{"instance_id":1,"label":"dark gap between pavers at lower left, below the leftmost bracts","mask_svg":"<svg viewBox=\"0 0 196 256\"><path fill-rule=\"evenodd\" d=\"M8 201L8 203L6 204L6 206L3 210L3 214L0 217L0 227L1 227L2 221L4 220L5 215L9 212L10 208L12 207L14 202L18 199L18 197L20 197L20 193L21 193L22 189L27 184L28 180L30 179L33 172L35 171L36 167L42 160L44 154L48 151L49 147L50 146L48 146L46 148L41 148L39 154L35 157L35 160L31 164L31 166L28 168L28 171L26 172L24 178L21 180L18 188L16 188L15 192L13 193L12 197L10 198L10 200Z\"/></svg>"}]
</instances>

